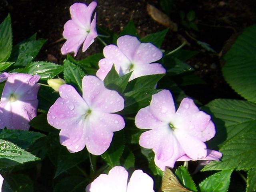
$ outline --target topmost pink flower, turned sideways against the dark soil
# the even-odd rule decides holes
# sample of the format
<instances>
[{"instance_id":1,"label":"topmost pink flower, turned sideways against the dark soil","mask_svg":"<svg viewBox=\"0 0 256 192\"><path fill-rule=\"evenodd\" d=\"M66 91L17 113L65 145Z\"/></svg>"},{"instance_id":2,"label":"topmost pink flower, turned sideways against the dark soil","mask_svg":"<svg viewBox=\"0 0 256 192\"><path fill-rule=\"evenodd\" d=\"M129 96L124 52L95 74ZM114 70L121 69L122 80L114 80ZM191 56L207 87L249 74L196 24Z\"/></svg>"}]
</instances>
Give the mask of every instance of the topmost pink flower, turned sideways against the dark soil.
<instances>
[{"instance_id":1,"label":"topmost pink flower, turned sideways against the dark soil","mask_svg":"<svg viewBox=\"0 0 256 192\"><path fill-rule=\"evenodd\" d=\"M94 42L97 37L96 13L91 22L92 13L97 3L91 2L88 6L83 3L74 3L70 6L71 20L64 25L63 37L67 40L61 48L63 55L74 52L76 56L80 46L83 44L83 52Z\"/></svg>"}]
</instances>

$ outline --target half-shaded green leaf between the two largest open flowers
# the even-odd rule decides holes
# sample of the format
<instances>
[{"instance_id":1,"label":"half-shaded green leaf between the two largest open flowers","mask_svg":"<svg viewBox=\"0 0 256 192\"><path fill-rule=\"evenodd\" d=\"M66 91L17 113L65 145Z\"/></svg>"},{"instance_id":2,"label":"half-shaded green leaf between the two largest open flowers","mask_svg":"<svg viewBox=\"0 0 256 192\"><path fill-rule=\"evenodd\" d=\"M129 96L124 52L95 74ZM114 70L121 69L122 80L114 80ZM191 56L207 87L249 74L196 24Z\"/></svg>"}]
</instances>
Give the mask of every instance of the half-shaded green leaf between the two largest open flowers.
<instances>
[{"instance_id":1,"label":"half-shaded green leaf between the two largest open flowers","mask_svg":"<svg viewBox=\"0 0 256 192\"><path fill-rule=\"evenodd\" d=\"M130 91L124 94L124 109L122 114L132 114L138 112L143 107L150 104L152 94L160 90L142 88L140 90Z\"/></svg>"}]
</instances>

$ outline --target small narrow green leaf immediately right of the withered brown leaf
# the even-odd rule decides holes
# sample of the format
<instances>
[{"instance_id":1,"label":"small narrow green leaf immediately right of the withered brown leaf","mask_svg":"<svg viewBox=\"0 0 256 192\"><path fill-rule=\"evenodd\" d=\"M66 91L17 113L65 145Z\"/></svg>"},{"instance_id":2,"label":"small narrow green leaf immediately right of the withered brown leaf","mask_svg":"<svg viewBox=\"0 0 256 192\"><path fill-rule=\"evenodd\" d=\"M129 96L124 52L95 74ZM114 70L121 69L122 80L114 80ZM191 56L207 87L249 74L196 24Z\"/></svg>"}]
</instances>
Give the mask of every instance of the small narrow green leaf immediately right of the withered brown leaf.
<instances>
[{"instance_id":1,"label":"small narrow green leaf immediately right of the withered brown leaf","mask_svg":"<svg viewBox=\"0 0 256 192\"><path fill-rule=\"evenodd\" d=\"M175 175L182 182L183 186L192 191L197 191L196 185L192 177L184 166L179 166L179 168L175 171Z\"/></svg>"}]
</instances>

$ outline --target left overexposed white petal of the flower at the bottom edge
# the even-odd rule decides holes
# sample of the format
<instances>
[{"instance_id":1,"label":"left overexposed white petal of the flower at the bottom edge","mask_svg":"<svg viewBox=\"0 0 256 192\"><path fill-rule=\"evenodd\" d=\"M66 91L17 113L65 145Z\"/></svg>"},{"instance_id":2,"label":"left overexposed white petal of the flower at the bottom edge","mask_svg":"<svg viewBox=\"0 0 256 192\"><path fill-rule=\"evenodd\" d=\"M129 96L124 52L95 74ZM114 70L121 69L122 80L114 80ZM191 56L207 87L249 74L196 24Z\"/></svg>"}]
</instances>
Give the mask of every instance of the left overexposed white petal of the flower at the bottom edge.
<instances>
[{"instance_id":1,"label":"left overexposed white petal of the flower at the bottom edge","mask_svg":"<svg viewBox=\"0 0 256 192\"><path fill-rule=\"evenodd\" d=\"M126 192L127 179L128 172L123 167L116 166L109 171L108 175L100 174L86 186L86 192Z\"/></svg>"}]
</instances>

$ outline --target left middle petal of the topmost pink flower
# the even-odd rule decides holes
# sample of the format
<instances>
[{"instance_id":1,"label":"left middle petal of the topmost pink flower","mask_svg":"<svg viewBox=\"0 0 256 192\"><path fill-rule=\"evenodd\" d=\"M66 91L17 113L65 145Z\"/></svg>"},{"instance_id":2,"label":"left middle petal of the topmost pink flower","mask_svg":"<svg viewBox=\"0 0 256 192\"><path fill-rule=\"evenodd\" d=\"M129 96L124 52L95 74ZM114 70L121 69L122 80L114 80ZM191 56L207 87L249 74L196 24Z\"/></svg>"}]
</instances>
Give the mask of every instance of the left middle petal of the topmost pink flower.
<instances>
[{"instance_id":1,"label":"left middle petal of the topmost pink flower","mask_svg":"<svg viewBox=\"0 0 256 192\"><path fill-rule=\"evenodd\" d=\"M65 39L73 38L75 36L86 36L86 30L81 28L74 20L68 20L64 24L64 31L62 33Z\"/></svg>"}]
</instances>

